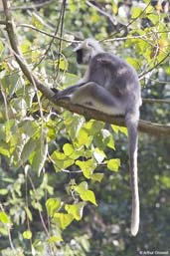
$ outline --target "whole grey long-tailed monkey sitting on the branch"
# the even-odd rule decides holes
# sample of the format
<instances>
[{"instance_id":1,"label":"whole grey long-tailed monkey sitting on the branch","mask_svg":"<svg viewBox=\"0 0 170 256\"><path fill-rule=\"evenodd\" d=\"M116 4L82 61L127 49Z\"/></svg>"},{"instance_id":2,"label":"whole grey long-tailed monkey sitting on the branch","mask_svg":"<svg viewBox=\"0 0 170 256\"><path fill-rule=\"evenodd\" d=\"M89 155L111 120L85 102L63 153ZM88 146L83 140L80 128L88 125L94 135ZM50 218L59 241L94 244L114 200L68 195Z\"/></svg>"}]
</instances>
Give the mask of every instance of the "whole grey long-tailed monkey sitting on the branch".
<instances>
[{"instance_id":1,"label":"whole grey long-tailed monkey sitting on the branch","mask_svg":"<svg viewBox=\"0 0 170 256\"><path fill-rule=\"evenodd\" d=\"M76 49L79 64L87 64L85 76L77 85L55 95L107 115L123 115L128 129L129 168L132 191L131 234L139 228L139 195L137 180L137 147L140 84L135 70L124 60L106 53L98 42L86 39Z\"/></svg>"}]
</instances>

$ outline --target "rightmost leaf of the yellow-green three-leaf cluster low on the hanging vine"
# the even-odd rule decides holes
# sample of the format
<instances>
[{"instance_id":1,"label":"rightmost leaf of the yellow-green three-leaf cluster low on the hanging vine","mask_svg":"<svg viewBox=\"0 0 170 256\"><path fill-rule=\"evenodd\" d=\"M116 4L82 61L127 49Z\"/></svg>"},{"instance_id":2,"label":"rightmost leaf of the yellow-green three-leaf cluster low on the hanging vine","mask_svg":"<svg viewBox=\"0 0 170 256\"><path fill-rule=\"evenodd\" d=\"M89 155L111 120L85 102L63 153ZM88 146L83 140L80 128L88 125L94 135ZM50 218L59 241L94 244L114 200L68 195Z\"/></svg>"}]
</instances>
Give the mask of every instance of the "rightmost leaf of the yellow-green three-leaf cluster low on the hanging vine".
<instances>
[{"instance_id":1,"label":"rightmost leaf of the yellow-green three-leaf cluster low on the hanging vine","mask_svg":"<svg viewBox=\"0 0 170 256\"><path fill-rule=\"evenodd\" d=\"M81 220L83 217L84 206L84 202L79 202L73 205L66 204L65 209L69 214L72 214L76 220Z\"/></svg>"}]
</instances>

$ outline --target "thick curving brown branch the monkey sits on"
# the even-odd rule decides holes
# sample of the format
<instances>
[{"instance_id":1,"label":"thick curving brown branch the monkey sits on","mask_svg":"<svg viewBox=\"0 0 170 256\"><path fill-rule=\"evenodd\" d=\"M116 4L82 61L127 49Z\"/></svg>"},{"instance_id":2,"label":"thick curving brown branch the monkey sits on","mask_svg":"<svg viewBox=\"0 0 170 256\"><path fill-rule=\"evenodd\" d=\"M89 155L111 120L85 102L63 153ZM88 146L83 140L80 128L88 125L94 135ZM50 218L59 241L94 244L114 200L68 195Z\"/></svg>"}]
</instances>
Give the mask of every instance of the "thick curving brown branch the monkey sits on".
<instances>
[{"instance_id":1,"label":"thick curving brown branch the monkey sits on","mask_svg":"<svg viewBox=\"0 0 170 256\"><path fill-rule=\"evenodd\" d=\"M26 78L32 83L38 90L42 92L42 94L48 98L52 103L54 103L56 106L64 107L65 109L77 113L80 115L85 116L85 119L94 119L98 121L102 121L109 124L114 124L117 126L125 127L124 119L123 117L114 117L105 115L103 113L100 113L99 111L91 110L82 106L71 104L69 101L59 101L57 102L54 98L54 92L50 90L48 87L44 86L42 82L40 82L35 75L32 75L32 71L29 70L29 66L27 62L25 61L20 49L19 44L17 41L15 29L14 29L14 23L12 20L12 15L9 7L9 0L2 0L3 7L4 7L4 13L6 17L6 30L8 33L9 41L11 44L12 51L14 53L14 56L16 58L16 61L18 62L22 72L26 76ZM146 121L140 121L139 122L139 131L146 132L148 134L157 135L157 136L168 136L170 135L170 126L163 126L154 124L151 122Z\"/></svg>"}]
</instances>

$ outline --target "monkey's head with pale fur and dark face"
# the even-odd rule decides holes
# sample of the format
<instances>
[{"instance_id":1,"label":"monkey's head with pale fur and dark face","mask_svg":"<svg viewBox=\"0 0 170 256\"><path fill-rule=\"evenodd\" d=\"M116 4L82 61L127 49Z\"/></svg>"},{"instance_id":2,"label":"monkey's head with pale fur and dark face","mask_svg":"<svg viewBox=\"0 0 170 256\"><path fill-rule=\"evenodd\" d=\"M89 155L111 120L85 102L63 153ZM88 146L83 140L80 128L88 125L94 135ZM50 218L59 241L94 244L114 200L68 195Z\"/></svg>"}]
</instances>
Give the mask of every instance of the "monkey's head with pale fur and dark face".
<instances>
[{"instance_id":1,"label":"monkey's head with pale fur and dark face","mask_svg":"<svg viewBox=\"0 0 170 256\"><path fill-rule=\"evenodd\" d=\"M92 57L103 52L103 50L96 40L88 38L76 47L74 52L77 53L77 62L79 64L88 64Z\"/></svg>"}]
</instances>

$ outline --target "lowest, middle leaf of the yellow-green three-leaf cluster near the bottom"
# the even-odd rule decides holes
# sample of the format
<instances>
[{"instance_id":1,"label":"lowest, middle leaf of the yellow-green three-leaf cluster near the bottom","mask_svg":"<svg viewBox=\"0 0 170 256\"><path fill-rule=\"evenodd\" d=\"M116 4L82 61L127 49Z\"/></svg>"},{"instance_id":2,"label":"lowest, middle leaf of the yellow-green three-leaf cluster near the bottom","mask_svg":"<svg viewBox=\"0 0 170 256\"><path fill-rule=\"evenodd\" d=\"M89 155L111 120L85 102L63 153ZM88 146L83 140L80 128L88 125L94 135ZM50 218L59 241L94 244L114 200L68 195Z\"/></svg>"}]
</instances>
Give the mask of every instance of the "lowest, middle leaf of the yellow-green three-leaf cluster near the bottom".
<instances>
[{"instance_id":1,"label":"lowest, middle leaf of the yellow-green three-leaf cluster near the bottom","mask_svg":"<svg viewBox=\"0 0 170 256\"><path fill-rule=\"evenodd\" d=\"M59 212L54 214L55 223L57 223L62 229L65 229L67 226L69 226L73 220L74 217L72 214Z\"/></svg>"}]
</instances>

